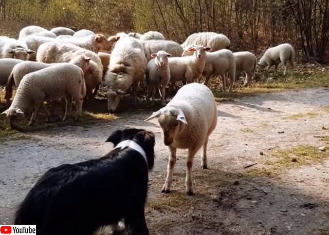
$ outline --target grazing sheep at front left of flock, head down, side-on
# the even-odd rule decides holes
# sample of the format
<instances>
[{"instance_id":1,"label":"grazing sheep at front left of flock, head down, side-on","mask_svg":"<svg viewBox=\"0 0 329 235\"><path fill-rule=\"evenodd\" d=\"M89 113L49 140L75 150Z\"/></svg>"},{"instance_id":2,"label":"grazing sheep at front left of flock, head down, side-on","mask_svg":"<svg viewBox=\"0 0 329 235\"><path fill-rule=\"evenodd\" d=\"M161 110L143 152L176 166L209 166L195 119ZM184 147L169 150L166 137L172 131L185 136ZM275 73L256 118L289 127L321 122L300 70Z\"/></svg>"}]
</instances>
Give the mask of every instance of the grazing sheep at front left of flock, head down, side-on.
<instances>
[{"instance_id":1,"label":"grazing sheep at front left of flock, head down, side-on","mask_svg":"<svg viewBox=\"0 0 329 235\"><path fill-rule=\"evenodd\" d=\"M33 125L36 112L42 106L47 116L49 111L43 101L65 98L66 108L63 121L71 112L72 98L76 103L75 121L82 113L83 98L86 95L86 86L83 80L83 71L76 65L58 64L26 74L10 107L1 114L6 114L12 129L20 129L16 121L24 119L24 114L32 109L29 125ZM32 107L31 107L32 105Z\"/></svg>"}]
</instances>

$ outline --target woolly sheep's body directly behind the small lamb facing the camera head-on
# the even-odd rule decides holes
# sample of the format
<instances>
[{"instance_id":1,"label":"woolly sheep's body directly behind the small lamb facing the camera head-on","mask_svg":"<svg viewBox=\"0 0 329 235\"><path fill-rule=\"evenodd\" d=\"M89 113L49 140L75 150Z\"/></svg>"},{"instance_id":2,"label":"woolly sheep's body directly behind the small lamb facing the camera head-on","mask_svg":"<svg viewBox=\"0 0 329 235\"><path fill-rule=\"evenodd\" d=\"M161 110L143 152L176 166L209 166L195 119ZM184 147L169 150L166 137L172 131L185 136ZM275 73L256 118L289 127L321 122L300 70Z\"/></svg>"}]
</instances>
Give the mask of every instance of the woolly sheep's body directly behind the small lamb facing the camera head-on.
<instances>
[{"instance_id":1,"label":"woolly sheep's body directly behind the small lamb facing the camera head-on","mask_svg":"<svg viewBox=\"0 0 329 235\"><path fill-rule=\"evenodd\" d=\"M148 40L141 42L144 46L145 56L147 62L152 60L151 54L155 54L158 51L166 51L174 57L180 56L183 52L182 47L173 41L167 40Z\"/></svg>"}]
</instances>

